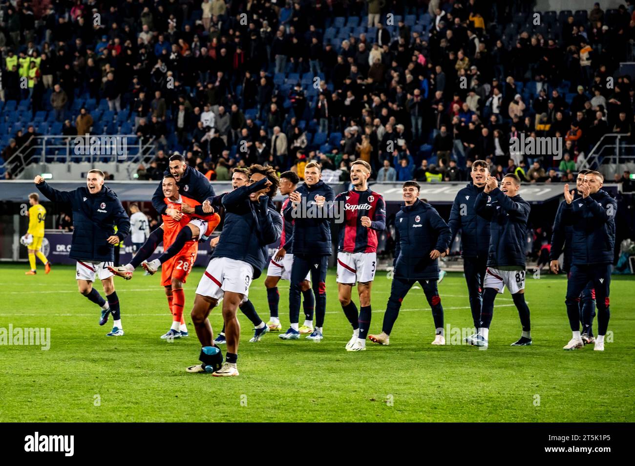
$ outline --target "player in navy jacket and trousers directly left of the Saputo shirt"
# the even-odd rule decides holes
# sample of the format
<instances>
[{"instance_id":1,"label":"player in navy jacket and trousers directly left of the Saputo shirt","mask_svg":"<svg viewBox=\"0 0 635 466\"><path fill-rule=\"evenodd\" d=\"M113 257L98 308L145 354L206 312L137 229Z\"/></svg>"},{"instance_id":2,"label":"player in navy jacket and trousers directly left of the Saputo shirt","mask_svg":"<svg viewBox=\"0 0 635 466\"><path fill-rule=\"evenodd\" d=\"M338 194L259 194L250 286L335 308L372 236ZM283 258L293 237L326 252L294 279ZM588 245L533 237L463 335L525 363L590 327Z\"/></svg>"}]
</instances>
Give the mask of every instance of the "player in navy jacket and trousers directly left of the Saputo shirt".
<instances>
[{"instance_id":1,"label":"player in navy jacket and trousers directly left of the Saputo shirt","mask_svg":"<svg viewBox=\"0 0 635 466\"><path fill-rule=\"evenodd\" d=\"M316 297L316 327L309 340L320 342L326 315L326 271L331 255L331 225L328 205L333 202L333 189L322 181L322 166L307 163L304 169L304 185L289 194L291 202L283 211L284 220L293 222L293 265L289 289L290 328L278 335L283 340L300 338L300 290L307 273ZM328 203L328 204L326 204Z\"/></svg>"}]
</instances>

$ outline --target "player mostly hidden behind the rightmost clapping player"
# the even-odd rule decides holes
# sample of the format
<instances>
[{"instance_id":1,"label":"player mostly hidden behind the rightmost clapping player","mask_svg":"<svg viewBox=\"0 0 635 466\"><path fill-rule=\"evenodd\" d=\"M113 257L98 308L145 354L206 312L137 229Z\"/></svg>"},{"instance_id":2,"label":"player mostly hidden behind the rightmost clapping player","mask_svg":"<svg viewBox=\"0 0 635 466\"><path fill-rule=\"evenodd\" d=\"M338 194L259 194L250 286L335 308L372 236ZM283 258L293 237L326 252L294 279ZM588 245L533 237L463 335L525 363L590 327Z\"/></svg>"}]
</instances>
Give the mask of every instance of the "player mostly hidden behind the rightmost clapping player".
<instances>
[{"instance_id":1,"label":"player mostly hidden behind the rightmost clapping player","mask_svg":"<svg viewBox=\"0 0 635 466\"><path fill-rule=\"evenodd\" d=\"M580 188L584 184L584 175L590 171L591 170L580 170L575 179L577 194L580 196L582 195ZM562 221L563 210L566 205L566 201L560 203L558 212L556 213L556 220L554 220L551 235L551 249L549 251L549 257L551 259L549 268L554 274L558 274L560 267L558 258L561 253L564 253L562 270L566 272L567 279L569 279L571 277L571 261L573 256L573 227L572 225L565 225L565 222ZM578 303L580 305L580 323L582 323L582 335L580 335L580 338L582 338L582 342L585 345L588 345L589 343L595 342L595 338L593 337L593 318L596 315L596 301L592 281L589 281L584 290L582 290L578 298Z\"/></svg>"}]
</instances>

